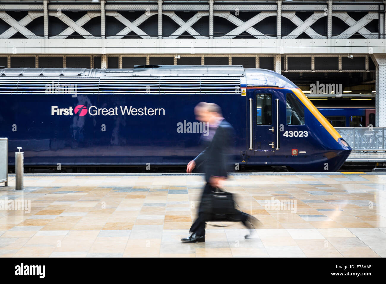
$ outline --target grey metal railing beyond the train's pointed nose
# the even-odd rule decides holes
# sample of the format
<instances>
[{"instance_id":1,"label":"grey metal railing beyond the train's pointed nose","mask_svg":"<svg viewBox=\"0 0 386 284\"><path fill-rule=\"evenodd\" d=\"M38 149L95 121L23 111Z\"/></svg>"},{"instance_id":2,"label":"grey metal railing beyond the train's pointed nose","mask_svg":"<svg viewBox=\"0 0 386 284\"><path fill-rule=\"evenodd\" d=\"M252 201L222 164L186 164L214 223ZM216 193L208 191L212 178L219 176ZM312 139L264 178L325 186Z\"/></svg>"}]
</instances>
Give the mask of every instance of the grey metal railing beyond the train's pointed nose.
<instances>
[{"instance_id":1,"label":"grey metal railing beyond the train's pointed nose","mask_svg":"<svg viewBox=\"0 0 386 284\"><path fill-rule=\"evenodd\" d=\"M386 128L335 127L343 139L356 151L386 151Z\"/></svg>"}]
</instances>

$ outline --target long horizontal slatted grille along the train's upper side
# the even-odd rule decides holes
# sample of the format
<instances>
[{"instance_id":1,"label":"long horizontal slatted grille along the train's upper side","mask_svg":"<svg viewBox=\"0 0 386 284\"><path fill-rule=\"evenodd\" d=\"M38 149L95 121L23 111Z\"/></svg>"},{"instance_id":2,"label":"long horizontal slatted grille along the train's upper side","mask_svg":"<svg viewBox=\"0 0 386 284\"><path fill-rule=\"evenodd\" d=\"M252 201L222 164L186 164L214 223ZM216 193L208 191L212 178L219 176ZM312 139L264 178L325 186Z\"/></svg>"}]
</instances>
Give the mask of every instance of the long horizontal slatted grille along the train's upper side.
<instances>
[{"instance_id":1,"label":"long horizontal slatted grille along the train's upper side","mask_svg":"<svg viewBox=\"0 0 386 284\"><path fill-rule=\"evenodd\" d=\"M0 77L1 94L237 94L240 77Z\"/></svg>"}]
</instances>

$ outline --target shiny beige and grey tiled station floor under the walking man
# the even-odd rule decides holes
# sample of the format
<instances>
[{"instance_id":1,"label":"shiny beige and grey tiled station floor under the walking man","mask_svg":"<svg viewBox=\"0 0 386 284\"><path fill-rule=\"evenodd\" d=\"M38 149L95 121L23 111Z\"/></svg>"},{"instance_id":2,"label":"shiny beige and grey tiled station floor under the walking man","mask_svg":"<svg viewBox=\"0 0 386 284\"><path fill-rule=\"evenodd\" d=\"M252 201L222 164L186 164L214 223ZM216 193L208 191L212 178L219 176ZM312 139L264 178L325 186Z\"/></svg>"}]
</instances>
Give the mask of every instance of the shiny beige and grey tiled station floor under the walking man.
<instances>
[{"instance_id":1,"label":"shiny beige and grey tiled station floor under the walking man","mask_svg":"<svg viewBox=\"0 0 386 284\"><path fill-rule=\"evenodd\" d=\"M27 175L24 191L14 179L0 205L30 206L0 210L1 257L386 257L386 174L232 175L224 188L261 225L244 239L241 223L208 224L197 244L179 239L200 175Z\"/></svg>"}]
</instances>

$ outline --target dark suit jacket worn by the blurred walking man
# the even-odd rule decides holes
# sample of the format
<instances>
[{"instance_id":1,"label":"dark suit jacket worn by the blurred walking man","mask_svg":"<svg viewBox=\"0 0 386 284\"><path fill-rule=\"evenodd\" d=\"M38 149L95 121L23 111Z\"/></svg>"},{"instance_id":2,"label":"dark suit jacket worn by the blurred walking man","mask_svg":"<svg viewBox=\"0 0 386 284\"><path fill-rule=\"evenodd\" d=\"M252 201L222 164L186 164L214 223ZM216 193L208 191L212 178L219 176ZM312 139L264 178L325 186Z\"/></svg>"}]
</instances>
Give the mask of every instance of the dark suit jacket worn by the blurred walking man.
<instances>
[{"instance_id":1,"label":"dark suit jacket worn by the blurred walking man","mask_svg":"<svg viewBox=\"0 0 386 284\"><path fill-rule=\"evenodd\" d=\"M205 180L209 182L211 176L227 177L228 156L233 146L234 129L229 122L223 119L217 127L209 146L194 161L196 166L203 164Z\"/></svg>"}]
</instances>

